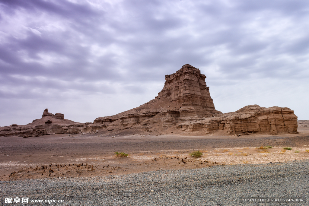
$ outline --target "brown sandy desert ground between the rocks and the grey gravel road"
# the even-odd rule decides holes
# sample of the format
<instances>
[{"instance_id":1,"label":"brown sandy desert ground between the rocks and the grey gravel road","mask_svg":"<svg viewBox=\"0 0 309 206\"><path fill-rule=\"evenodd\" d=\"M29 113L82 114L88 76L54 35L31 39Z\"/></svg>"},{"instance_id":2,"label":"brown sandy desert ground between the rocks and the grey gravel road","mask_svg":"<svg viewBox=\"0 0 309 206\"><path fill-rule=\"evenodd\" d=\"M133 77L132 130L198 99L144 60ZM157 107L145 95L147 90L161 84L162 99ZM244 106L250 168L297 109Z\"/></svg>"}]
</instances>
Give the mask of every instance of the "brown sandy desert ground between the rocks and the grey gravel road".
<instances>
[{"instance_id":1,"label":"brown sandy desert ground between the rocks and the grey gravel road","mask_svg":"<svg viewBox=\"0 0 309 206\"><path fill-rule=\"evenodd\" d=\"M299 134L293 135L0 137L0 180L100 176L308 159L309 124L303 125L298 128ZM272 148L265 148L267 145ZM283 147L292 149L283 150ZM189 154L197 150L203 153L201 158ZM117 158L114 152L129 156Z\"/></svg>"}]
</instances>

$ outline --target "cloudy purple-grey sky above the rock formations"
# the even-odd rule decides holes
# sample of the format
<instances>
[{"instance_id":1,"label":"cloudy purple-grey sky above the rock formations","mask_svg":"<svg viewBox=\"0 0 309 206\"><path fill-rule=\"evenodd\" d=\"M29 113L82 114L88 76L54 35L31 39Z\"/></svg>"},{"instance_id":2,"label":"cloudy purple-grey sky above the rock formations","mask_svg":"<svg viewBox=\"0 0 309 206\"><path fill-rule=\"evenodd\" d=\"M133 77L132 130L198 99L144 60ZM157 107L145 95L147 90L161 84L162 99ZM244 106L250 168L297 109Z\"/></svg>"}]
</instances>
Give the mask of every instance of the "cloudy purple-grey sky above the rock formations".
<instances>
[{"instance_id":1,"label":"cloudy purple-grey sky above the rock formations","mask_svg":"<svg viewBox=\"0 0 309 206\"><path fill-rule=\"evenodd\" d=\"M308 19L308 0L0 0L0 126L118 114L187 63L218 111L308 120Z\"/></svg>"}]
</instances>

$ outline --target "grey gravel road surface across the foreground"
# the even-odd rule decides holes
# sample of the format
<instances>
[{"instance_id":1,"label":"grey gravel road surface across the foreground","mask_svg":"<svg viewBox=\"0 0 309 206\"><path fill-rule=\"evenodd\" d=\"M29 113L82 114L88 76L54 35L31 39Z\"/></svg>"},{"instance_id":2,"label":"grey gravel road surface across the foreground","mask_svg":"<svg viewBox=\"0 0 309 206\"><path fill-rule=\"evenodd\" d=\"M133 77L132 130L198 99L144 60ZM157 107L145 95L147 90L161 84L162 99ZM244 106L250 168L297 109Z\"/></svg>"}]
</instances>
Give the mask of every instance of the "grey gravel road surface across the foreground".
<instances>
[{"instance_id":1,"label":"grey gravel road surface across the foreground","mask_svg":"<svg viewBox=\"0 0 309 206\"><path fill-rule=\"evenodd\" d=\"M309 161L212 166L193 170L158 170L91 178L1 181L5 197L29 197L14 205L308 205L241 203L239 198L306 198ZM168 173L168 174L166 174ZM30 203L63 199L64 203ZM13 199L14 200L14 199Z\"/></svg>"}]
</instances>

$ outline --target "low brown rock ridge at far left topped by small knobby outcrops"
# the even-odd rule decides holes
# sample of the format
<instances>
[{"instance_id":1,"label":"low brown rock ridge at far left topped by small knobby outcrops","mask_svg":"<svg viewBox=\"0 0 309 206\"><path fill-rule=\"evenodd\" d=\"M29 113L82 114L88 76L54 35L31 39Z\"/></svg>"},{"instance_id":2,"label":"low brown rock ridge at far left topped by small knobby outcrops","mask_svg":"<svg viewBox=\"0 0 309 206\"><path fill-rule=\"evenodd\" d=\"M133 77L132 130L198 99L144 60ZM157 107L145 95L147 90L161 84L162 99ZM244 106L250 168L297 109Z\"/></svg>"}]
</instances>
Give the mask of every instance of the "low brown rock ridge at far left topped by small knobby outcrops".
<instances>
[{"instance_id":1,"label":"low brown rock ridge at far left topped by small knobby outcrops","mask_svg":"<svg viewBox=\"0 0 309 206\"><path fill-rule=\"evenodd\" d=\"M33 120L26 125L12 124L0 127L0 136L38 137L48 134L78 134L83 127L91 123L78 123L64 119L64 115L53 115L45 109L41 119Z\"/></svg>"}]
</instances>

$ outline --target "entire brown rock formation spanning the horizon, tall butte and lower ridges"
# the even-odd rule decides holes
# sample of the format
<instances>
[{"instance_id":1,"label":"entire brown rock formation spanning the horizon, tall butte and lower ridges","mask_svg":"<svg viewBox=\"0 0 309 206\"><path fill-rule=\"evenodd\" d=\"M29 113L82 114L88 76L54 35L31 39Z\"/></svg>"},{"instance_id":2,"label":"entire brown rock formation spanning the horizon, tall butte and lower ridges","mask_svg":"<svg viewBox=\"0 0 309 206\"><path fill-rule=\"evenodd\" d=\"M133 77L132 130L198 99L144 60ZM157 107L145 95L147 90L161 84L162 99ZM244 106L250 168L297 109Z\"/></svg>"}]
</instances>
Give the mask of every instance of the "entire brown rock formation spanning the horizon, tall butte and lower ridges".
<instances>
[{"instance_id":1,"label":"entire brown rock formation spanning the horizon, tall butte and lower ridges","mask_svg":"<svg viewBox=\"0 0 309 206\"><path fill-rule=\"evenodd\" d=\"M114 116L98 117L93 123L65 120L45 109L42 118L19 126L0 127L0 136L40 136L50 133L111 132L185 135L205 135L220 132L231 134L288 134L297 133L297 116L289 108L249 105L222 114L214 107L206 86L206 76L189 64L174 74L165 76L162 91L155 99Z\"/></svg>"}]
</instances>

